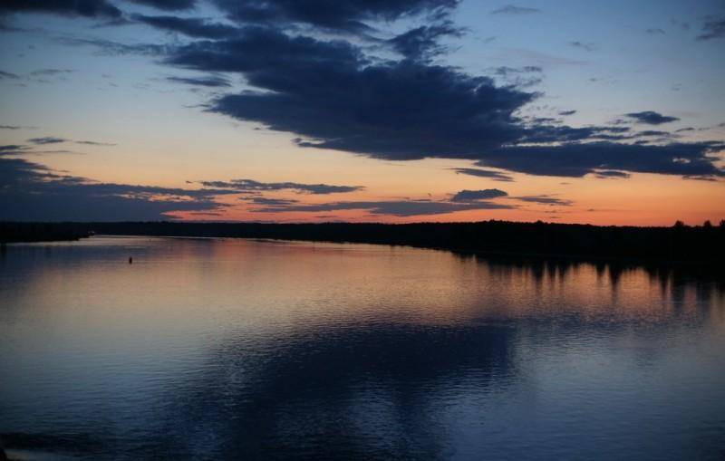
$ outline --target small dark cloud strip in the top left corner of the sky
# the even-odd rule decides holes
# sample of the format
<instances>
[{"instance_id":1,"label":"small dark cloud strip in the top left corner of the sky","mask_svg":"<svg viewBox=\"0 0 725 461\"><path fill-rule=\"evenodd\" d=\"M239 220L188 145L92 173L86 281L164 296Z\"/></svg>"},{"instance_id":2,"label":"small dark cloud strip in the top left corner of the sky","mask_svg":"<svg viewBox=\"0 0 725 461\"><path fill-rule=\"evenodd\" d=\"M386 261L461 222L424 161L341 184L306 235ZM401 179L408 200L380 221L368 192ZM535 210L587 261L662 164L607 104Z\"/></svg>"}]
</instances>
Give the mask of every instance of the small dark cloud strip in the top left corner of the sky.
<instances>
[{"instance_id":1,"label":"small dark cloud strip in the top left corner of the sky","mask_svg":"<svg viewBox=\"0 0 725 461\"><path fill-rule=\"evenodd\" d=\"M65 16L121 18L121 10L106 0L3 0L0 14L47 13Z\"/></svg>"}]
</instances>

